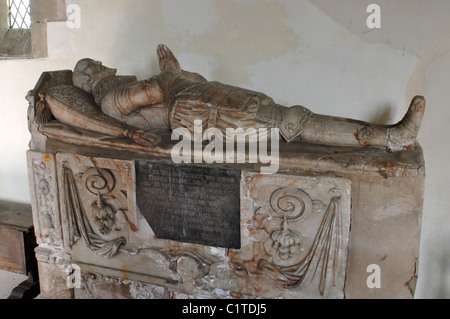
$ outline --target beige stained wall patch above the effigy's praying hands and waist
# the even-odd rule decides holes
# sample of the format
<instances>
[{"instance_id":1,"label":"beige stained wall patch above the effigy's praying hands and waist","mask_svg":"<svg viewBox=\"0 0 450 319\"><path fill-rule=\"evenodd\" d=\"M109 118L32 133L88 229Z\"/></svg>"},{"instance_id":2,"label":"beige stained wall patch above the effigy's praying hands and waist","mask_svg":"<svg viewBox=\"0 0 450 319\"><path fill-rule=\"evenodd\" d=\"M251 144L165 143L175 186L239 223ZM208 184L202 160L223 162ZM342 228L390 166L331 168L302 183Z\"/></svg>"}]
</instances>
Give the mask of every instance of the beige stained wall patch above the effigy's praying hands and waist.
<instances>
[{"instance_id":1,"label":"beige stained wall patch above the effigy's praying hands and waist","mask_svg":"<svg viewBox=\"0 0 450 319\"><path fill-rule=\"evenodd\" d=\"M190 2L186 1L183 7ZM207 21L203 28L183 29L183 20L174 19L179 13L164 9L164 5L162 13L166 29L184 51L213 56L220 61L211 74L214 80L248 82L246 66L269 62L300 46L301 39L285 24L286 10L278 2L214 1L208 2L207 7L198 16ZM213 14L214 19L210 16Z\"/></svg>"}]
</instances>

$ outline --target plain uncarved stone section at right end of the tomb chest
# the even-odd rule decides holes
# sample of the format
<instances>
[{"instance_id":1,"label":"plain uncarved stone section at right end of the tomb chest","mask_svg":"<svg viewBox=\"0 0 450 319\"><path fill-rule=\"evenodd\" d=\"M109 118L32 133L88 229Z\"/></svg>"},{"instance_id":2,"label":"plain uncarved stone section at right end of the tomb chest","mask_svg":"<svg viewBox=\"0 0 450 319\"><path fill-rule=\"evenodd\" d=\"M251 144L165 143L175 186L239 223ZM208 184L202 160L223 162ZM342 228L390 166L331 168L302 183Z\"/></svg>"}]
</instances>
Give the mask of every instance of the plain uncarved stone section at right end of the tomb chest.
<instances>
[{"instance_id":1,"label":"plain uncarved stone section at right end of the tomb chest","mask_svg":"<svg viewBox=\"0 0 450 319\"><path fill-rule=\"evenodd\" d=\"M411 298L417 279L424 175L355 176L346 298ZM380 288L366 281L380 267Z\"/></svg>"}]
</instances>

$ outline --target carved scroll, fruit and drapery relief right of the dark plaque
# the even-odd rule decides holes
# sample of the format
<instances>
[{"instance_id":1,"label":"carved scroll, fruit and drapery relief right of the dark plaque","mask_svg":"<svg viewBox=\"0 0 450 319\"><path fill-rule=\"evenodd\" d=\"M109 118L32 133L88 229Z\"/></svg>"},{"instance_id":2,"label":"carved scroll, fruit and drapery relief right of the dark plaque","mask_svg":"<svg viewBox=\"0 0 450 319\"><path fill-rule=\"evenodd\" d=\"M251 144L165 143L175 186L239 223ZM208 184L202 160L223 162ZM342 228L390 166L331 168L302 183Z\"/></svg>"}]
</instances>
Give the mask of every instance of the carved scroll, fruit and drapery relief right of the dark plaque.
<instances>
[{"instance_id":1,"label":"carved scroll, fruit and drapery relief right of the dark plaque","mask_svg":"<svg viewBox=\"0 0 450 319\"><path fill-rule=\"evenodd\" d=\"M327 206L320 200L312 200L298 188L274 191L270 205L258 208L253 218L253 227L266 234L262 241L254 242L260 247L257 251L264 252L257 261L257 272L279 282L284 288L302 287L318 275L318 289L324 295L326 286L333 282L332 278L337 277L342 267L339 207L340 197L333 197ZM306 245L298 226L314 214L323 217L313 240ZM252 272L248 267L247 271Z\"/></svg>"}]
</instances>

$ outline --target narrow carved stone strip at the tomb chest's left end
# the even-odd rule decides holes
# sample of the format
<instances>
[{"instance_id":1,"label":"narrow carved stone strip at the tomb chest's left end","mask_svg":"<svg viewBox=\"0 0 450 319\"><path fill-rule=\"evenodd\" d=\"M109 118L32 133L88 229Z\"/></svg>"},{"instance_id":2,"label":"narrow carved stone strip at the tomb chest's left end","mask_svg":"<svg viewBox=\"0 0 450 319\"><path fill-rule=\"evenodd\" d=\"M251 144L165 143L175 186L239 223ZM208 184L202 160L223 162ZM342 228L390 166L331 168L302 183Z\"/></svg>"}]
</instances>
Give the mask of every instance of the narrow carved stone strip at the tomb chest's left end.
<instances>
[{"instance_id":1,"label":"narrow carved stone strip at the tomb chest's left end","mask_svg":"<svg viewBox=\"0 0 450 319\"><path fill-rule=\"evenodd\" d=\"M55 156L27 152L33 223L39 245L62 245Z\"/></svg>"}]
</instances>

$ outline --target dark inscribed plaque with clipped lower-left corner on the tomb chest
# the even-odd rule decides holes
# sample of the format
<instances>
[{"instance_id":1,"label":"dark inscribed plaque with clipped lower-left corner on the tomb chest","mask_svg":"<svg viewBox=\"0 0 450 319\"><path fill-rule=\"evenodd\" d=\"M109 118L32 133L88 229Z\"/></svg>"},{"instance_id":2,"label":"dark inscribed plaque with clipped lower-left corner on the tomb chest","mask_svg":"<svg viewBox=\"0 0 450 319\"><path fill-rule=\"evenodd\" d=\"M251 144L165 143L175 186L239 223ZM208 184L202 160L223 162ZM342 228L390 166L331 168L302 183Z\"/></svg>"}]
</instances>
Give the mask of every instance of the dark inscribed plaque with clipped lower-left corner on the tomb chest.
<instances>
[{"instance_id":1,"label":"dark inscribed plaque with clipped lower-left corner on the tomb chest","mask_svg":"<svg viewBox=\"0 0 450 319\"><path fill-rule=\"evenodd\" d=\"M136 201L157 238L239 249L238 170L137 162Z\"/></svg>"}]
</instances>

